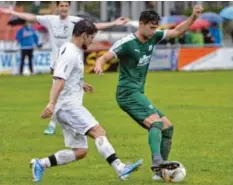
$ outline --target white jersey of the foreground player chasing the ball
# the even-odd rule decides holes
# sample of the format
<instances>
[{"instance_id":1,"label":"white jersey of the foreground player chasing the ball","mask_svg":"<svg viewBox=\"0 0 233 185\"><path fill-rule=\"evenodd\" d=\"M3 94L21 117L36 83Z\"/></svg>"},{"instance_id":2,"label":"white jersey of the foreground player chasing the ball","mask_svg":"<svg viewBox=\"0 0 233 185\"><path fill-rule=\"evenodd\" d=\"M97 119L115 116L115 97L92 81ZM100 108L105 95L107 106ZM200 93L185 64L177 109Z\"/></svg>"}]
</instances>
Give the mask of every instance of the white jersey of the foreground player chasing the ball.
<instances>
[{"instance_id":1,"label":"white jersey of the foreground player chasing the ball","mask_svg":"<svg viewBox=\"0 0 233 185\"><path fill-rule=\"evenodd\" d=\"M82 105L84 51L71 42L63 45L56 60L54 77L65 80L65 86L58 97L55 112L61 107L69 109L69 107L73 107L72 105Z\"/></svg>"}]
</instances>

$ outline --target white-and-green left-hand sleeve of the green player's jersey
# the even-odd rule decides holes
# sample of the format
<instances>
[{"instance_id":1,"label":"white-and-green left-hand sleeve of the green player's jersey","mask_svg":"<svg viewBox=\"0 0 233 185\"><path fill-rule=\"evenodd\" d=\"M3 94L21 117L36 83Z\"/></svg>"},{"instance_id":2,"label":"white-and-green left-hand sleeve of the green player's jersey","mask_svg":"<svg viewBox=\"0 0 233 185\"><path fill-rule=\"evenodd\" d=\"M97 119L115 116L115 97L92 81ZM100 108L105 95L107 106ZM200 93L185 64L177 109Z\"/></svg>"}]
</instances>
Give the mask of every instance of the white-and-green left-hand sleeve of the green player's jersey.
<instances>
[{"instance_id":1,"label":"white-and-green left-hand sleeve of the green player's jersey","mask_svg":"<svg viewBox=\"0 0 233 185\"><path fill-rule=\"evenodd\" d=\"M112 52L116 58L120 58L127 53L127 43L119 40L112 45L109 51Z\"/></svg>"}]
</instances>

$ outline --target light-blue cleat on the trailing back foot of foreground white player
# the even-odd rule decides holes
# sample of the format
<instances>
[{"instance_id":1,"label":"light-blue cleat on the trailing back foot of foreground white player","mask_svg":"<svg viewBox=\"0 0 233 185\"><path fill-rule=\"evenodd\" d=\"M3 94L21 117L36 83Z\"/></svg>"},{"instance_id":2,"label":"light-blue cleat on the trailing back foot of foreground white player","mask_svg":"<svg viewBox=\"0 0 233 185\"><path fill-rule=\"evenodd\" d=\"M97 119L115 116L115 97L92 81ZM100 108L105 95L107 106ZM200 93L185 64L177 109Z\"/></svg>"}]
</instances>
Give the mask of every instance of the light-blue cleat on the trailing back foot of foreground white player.
<instances>
[{"instance_id":1,"label":"light-blue cleat on the trailing back foot of foreground white player","mask_svg":"<svg viewBox=\"0 0 233 185\"><path fill-rule=\"evenodd\" d=\"M32 159L30 162L32 168L32 177L34 182L40 182L45 168L39 163L39 159Z\"/></svg>"}]
</instances>

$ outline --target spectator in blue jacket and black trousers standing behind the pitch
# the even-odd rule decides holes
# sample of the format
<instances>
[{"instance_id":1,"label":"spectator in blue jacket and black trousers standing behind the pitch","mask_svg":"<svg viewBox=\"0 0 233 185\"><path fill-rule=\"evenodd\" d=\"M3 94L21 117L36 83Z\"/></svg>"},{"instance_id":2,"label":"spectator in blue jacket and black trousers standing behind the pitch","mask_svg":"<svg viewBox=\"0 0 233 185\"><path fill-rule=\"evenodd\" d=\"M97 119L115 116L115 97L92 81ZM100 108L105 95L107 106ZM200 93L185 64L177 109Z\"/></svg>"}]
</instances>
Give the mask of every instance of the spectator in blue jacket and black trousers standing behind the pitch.
<instances>
[{"instance_id":1,"label":"spectator in blue jacket and black trousers standing behind the pitch","mask_svg":"<svg viewBox=\"0 0 233 185\"><path fill-rule=\"evenodd\" d=\"M20 48L21 48L21 61L20 61L20 75L23 75L23 67L24 67L24 60L25 57L28 56L29 61L29 69L31 74L33 73L33 49L38 44L38 36L36 31L31 28L31 26L25 21L24 26L19 29L16 33L16 40L18 41Z\"/></svg>"}]
</instances>

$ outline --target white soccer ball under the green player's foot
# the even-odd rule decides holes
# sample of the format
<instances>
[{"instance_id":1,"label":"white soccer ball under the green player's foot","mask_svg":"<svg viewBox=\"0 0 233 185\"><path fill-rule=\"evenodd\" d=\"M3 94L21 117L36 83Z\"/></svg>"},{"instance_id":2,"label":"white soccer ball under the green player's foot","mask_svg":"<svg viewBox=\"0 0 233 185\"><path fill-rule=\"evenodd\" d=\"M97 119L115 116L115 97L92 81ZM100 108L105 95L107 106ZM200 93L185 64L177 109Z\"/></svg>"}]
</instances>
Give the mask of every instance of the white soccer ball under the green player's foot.
<instances>
[{"instance_id":1,"label":"white soccer ball under the green player's foot","mask_svg":"<svg viewBox=\"0 0 233 185\"><path fill-rule=\"evenodd\" d=\"M162 171L163 179L166 182L181 182L181 181L183 181L185 176L186 176L185 167L180 162L177 162L177 161L172 161L172 162L178 163L179 166L174 170L164 169Z\"/></svg>"}]
</instances>

